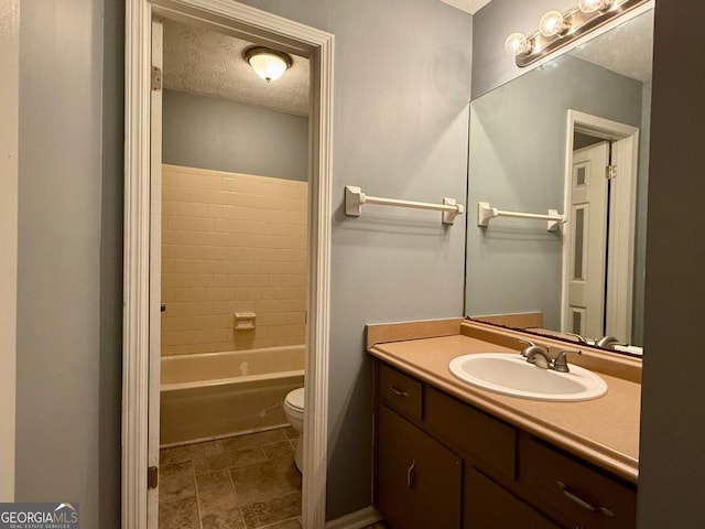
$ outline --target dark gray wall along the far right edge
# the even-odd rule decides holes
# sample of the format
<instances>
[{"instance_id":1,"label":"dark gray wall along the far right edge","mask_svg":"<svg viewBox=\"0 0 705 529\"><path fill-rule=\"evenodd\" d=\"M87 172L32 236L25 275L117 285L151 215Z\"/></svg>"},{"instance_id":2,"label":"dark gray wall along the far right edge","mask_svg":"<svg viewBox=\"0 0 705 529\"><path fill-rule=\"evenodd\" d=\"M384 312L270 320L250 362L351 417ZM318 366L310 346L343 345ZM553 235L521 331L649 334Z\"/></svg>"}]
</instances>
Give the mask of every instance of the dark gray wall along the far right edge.
<instances>
[{"instance_id":1,"label":"dark gray wall along the far right edge","mask_svg":"<svg viewBox=\"0 0 705 529\"><path fill-rule=\"evenodd\" d=\"M702 1L657 4L640 529L705 527L705 355L699 346L705 322L704 18ZM674 40L675 34L682 39ZM674 208L677 219L668 222Z\"/></svg>"}]
</instances>

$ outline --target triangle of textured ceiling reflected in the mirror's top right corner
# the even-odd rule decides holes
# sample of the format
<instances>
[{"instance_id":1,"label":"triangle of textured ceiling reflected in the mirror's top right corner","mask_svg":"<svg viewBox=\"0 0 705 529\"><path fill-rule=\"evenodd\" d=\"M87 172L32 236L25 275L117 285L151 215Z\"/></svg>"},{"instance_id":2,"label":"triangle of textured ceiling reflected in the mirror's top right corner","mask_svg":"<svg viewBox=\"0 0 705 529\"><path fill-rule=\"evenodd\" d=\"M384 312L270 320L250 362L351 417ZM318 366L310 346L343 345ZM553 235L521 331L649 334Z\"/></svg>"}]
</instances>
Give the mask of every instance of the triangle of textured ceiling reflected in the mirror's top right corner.
<instances>
[{"instance_id":1,"label":"triangle of textured ceiling reflected in the mirror's top right corner","mask_svg":"<svg viewBox=\"0 0 705 529\"><path fill-rule=\"evenodd\" d=\"M642 83L651 80L653 9L576 47L571 55Z\"/></svg>"}]
</instances>

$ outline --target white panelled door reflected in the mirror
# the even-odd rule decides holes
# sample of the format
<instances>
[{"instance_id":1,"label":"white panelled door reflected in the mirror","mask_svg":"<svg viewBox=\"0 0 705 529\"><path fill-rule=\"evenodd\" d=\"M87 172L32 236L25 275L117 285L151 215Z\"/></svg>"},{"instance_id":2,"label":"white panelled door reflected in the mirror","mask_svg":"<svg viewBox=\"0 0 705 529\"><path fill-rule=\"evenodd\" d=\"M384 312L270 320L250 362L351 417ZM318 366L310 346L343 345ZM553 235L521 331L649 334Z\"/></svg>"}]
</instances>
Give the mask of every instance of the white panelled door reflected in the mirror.
<instances>
[{"instance_id":1,"label":"white panelled door reflected in the mirror","mask_svg":"<svg viewBox=\"0 0 705 529\"><path fill-rule=\"evenodd\" d=\"M605 248L609 142L573 151L568 332L598 338L605 321Z\"/></svg>"}]
</instances>

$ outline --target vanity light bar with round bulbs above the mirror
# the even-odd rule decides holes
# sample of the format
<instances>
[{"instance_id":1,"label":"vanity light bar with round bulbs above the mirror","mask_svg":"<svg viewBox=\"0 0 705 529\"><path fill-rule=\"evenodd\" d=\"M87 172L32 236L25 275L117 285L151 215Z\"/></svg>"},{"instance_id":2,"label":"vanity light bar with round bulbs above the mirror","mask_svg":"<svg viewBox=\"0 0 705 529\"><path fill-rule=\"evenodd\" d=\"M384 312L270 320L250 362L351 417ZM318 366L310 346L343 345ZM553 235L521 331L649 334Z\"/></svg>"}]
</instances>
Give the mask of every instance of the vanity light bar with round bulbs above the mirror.
<instances>
[{"instance_id":1,"label":"vanity light bar with round bulbs above the mirror","mask_svg":"<svg viewBox=\"0 0 705 529\"><path fill-rule=\"evenodd\" d=\"M649 1L577 0L577 7L565 13L555 10L544 13L535 33L509 35L505 48L514 56L514 64L523 68Z\"/></svg>"}]
</instances>

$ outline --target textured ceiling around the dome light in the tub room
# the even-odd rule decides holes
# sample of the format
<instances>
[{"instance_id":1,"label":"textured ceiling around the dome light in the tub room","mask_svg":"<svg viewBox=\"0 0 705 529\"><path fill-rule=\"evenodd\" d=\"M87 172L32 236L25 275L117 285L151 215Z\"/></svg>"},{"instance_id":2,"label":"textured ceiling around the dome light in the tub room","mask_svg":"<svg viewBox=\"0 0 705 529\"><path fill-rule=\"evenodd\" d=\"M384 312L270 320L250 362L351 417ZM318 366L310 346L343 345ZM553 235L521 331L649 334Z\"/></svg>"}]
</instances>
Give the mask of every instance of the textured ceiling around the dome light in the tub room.
<instances>
[{"instance_id":1,"label":"textured ceiling around the dome light in the tub room","mask_svg":"<svg viewBox=\"0 0 705 529\"><path fill-rule=\"evenodd\" d=\"M308 115L308 60L267 83L242 58L253 44L203 28L164 20L164 88L228 99L297 116Z\"/></svg>"}]
</instances>

